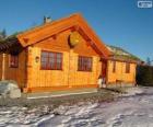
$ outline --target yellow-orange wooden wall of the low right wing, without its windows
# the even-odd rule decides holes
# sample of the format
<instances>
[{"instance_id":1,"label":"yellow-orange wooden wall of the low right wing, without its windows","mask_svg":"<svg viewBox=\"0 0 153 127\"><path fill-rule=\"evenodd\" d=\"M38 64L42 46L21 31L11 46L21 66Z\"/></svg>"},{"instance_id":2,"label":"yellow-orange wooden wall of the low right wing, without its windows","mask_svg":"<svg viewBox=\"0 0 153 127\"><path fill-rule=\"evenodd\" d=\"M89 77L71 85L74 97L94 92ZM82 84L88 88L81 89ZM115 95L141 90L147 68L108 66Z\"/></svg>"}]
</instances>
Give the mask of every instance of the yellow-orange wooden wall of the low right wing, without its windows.
<instances>
[{"instance_id":1,"label":"yellow-orange wooden wall of the low right wing, without its windows","mask_svg":"<svg viewBox=\"0 0 153 127\"><path fill-rule=\"evenodd\" d=\"M136 64L130 64L130 70L126 72L126 62L115 61L116 70L113 72L114 61L108 60L107 67L107 82L116 83L116 81L123 81L126 83L136 83Z\"/></svg>"}]
</instances>

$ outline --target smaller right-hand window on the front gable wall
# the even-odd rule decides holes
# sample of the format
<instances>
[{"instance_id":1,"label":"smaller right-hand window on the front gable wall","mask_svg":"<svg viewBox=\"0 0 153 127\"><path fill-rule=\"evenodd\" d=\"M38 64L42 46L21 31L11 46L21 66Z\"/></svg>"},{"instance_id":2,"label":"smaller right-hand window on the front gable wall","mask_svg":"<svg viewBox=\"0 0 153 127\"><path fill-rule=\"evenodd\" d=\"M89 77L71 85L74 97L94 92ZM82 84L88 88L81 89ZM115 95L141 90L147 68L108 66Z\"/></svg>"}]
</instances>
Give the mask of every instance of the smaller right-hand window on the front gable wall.
<instances>
[{"instance_id":1,"label":"smaller right-hand window on the front gable wall","mask_svg":"<svg viewBox=\"0 0 153 127\"><path fill-rule=\"evenodd\" d=\"M79 71L92 71L92 57L79 56L78 70Z\"/></svg>"}]
</instances>

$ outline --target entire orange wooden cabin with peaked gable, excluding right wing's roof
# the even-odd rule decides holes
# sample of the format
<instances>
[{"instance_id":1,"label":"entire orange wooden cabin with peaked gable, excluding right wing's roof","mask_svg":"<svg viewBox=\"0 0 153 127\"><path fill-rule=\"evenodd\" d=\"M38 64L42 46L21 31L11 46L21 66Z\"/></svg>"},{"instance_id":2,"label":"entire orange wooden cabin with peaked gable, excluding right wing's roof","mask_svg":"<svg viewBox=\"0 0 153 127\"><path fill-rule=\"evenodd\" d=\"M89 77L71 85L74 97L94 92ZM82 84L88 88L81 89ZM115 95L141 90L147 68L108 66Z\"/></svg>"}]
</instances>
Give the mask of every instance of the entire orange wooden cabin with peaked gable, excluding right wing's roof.
<instances>
[{"instance_id":1,"label":"entire orange wooden cabin with peaked gable, excluding right wing's roof","mask_svg":"<svg viewBox=\"0 0 153 127\"><path fill-rule=\"evenodd\" d=\"M111 58L81 14L16 33L0 51L1 80L16 81L24 92L96 89L99 76L106 83L136 81L137 64Z\"/></svg>"}]
</instances>

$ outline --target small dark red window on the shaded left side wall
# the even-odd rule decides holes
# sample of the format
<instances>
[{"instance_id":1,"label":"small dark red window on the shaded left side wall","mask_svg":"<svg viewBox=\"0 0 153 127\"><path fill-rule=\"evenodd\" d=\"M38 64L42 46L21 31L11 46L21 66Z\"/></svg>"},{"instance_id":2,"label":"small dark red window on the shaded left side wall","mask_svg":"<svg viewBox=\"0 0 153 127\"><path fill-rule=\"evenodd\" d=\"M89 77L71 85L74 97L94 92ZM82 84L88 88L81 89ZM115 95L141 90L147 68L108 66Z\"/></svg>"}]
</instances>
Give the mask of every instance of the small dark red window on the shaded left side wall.
<instances>
[{"instance_id":1,"label":"small dark red window on the shaded left side wall","mask_svg":"<svg viewBox=\"0 0 153 127\"><path fill-rule=\"evenodd\" d=\"M19 67L19 56L10 55L10 68L17 68L17 67Z\"/></svg>"}]
</instances>

